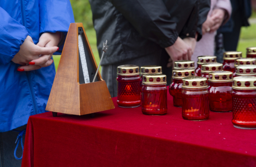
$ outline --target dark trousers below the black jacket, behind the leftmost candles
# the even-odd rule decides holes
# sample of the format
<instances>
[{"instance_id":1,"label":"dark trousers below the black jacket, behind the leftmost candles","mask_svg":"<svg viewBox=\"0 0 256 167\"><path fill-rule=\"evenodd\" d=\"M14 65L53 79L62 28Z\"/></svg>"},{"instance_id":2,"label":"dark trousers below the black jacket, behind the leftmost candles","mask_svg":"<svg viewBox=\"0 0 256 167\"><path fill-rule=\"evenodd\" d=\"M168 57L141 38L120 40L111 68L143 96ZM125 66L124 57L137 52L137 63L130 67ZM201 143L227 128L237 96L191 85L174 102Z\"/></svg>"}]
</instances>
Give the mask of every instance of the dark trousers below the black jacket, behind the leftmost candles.
<instances>
[{"instance_id":1,"label":"dark trousers below the black jacket, behind the leftmost candles","mask_svg":"<svg viewBox=\"0 0 256 167\"><path fill-rule=\"evenodd\" d=\"M165 75L167 75L167 84L170 84L171 77L172 77L172 68L167 68L169 55L168 53L163 49L159 54L157 55L146 55L141 56L138 58L134 58L132 60L127 60L124 62L114 63L111 65L102 66L101 68L101 75L103 80L106 81L108 90L110 91L111 97L117 96L117 67L121 65L137 65L139 67L141 66L147 66L147 65L157 65L162 66L162 71Z\"/></svg>"}]
</instances>

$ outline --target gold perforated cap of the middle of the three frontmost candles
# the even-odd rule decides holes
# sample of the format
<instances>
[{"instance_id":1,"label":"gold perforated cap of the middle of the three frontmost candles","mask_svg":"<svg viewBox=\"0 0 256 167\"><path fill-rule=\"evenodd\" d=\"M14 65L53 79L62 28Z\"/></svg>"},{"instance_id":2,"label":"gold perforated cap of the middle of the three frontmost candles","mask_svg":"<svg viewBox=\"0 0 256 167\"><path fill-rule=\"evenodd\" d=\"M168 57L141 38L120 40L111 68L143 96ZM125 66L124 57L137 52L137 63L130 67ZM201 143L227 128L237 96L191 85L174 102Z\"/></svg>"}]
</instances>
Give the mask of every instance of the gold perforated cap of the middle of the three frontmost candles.
<instances>
[{"instance_id":1,"label":"gold perforated cap of the middle of the three frontmost candles","mask_svg":"<svg viewBox=\"0 0 256 167\"><path fill-rule=\"evenodd\" d=\"M206 88L208 86L205 77L184 77L182 82L182 88Z\"/></svg>"}]
</instances>

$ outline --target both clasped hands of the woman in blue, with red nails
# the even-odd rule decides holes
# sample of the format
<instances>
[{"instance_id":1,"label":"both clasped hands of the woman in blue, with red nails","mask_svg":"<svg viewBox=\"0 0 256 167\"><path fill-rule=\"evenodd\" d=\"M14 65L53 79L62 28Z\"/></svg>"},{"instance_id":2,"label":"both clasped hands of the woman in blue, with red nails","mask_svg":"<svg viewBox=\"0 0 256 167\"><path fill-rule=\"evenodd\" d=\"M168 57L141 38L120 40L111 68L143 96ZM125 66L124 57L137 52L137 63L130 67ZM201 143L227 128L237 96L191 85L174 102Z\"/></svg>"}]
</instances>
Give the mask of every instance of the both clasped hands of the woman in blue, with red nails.
<instances>
[{"instance_id":1,"label":"both clasped hands of the woman in blue, with red nails","mask_svg":"<svg viewBox=\"0 0 256 167\"><path fill-rule=\"evenodd\" d=\"M31 71L50 66L53 63L51 56L59 50L57 46L60 37L60 32L43 33L35 45L32 38L27 36L12 61L21 65L18 67L19 71Z\"/></svg>"}]
</instances>

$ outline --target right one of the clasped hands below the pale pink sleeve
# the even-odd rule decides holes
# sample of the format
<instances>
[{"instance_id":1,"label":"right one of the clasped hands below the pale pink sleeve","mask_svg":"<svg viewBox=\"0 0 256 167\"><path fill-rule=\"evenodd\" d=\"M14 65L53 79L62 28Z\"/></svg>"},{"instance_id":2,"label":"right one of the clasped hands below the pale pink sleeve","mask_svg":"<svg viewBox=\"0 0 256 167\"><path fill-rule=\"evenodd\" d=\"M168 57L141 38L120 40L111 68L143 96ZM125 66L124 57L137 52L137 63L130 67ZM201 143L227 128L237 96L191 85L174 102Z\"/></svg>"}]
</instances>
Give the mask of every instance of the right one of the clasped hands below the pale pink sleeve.
<instances>
[{"instance_id":1,"label":"right one of the clasped hands below the pale pink sleeve","mask_svg":"<svg viewBox=\"0 0 256 167\"><path fill-rule=\"evenodd\" d=\"M224 9L214 9L211 13L211 19L214 21L214 25L211 27L210 32L215 32L221 26L225 17Z\"/></svg>"}]
</instances>

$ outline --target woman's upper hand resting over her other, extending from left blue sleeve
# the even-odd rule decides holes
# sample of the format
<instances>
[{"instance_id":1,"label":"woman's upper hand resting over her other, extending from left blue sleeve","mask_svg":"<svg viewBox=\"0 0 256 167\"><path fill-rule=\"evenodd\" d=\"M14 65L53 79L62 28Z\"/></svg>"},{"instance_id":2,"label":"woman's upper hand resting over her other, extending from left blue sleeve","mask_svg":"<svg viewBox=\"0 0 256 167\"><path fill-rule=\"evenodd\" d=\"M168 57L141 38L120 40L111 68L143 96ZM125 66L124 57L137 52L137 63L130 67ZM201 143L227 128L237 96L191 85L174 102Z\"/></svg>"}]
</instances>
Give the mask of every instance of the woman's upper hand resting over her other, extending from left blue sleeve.
<instances>
[{"instance_id":1,"label":"woman's upper hand resting over her other, extending from left blue sleeve","mask_svg":"<svg viewBox=\"0 0 256 167\"><path fill-rule=\"evenodd\" d=\"M18 53L12 58L12 61L20 65L26 65L30 61L35 60L36 58L39 58L39 55L52 54L56 52L57 49L58 47L44 48L44 47L37 46L33 42L32 38L30 36L27 36L25 41L20 46L20 51L18 51ZM34 70L37 70L40 68L40 66L34 67L34 68L35 68ZM20 71L24 71L24 70L20 70Z\"/></svg>"}]
</instances>

